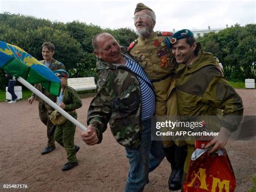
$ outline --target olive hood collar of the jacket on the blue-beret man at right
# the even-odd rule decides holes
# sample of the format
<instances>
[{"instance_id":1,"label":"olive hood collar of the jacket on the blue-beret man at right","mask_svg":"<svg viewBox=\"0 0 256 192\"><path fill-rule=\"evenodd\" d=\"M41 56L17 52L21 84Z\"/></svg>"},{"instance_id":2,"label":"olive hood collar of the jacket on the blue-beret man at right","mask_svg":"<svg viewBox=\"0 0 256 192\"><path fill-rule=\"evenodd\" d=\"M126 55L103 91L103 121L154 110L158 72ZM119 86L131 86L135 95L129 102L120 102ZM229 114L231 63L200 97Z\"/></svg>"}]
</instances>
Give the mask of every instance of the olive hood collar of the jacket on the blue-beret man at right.
<instances>
[{"instance_id":1,"label":"olive hood collar of the jacket on the blue-beret man at right","mask_svg":"<svg viewBox=\"0 0 256 192\"><path fill-rule=\"evenodd\" d=\"M205 66L210 65L216 66L213 55L207 52L200 52L196 60L194 60L194 62L191 65L178 64L175 73L190 74L196 72L197 70Z\"/></svg>"}]
</instances>

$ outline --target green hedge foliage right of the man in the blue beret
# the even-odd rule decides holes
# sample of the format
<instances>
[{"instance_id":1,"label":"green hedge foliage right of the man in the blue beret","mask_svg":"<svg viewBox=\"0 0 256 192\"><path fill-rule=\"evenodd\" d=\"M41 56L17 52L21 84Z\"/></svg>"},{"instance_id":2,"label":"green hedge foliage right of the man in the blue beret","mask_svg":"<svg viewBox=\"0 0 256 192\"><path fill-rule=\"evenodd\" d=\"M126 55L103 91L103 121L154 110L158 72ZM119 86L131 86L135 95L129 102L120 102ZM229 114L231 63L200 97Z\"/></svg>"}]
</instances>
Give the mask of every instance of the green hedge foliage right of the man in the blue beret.
<instances>
[{"instance_id":1,"label":"green hedge foliage right of the man in the blue beret","mask_svg":"<svg viewBox=\"0 0 256 192\"><path fill-rule=\"evenodd\" d=\"M221 30L219 33L208 33L198 39L203 49L217 56L224 66L228 80L244 81L255 79L256 61L256 25L239 24Z\"/></svg>"}]
</instances>

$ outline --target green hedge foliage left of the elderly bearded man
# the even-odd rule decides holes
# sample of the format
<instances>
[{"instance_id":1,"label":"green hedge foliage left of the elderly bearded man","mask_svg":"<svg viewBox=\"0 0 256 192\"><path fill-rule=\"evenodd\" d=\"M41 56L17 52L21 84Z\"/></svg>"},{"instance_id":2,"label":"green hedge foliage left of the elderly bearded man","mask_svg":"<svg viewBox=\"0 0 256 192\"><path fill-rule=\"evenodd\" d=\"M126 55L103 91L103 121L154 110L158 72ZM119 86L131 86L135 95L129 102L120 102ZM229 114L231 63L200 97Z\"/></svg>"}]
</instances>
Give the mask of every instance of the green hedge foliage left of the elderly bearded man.
<instances>
[{"instance_id":1,"label":"green hedge foliage left of the elderly bearded man","mask_svg":"<svg viewBox=\"0 0 256 192\"><path fill-rule=\"evenodd\" d=\"M0 40L23 48L38 60L42 60L42 43L52 42L56 47L53 58L64 63L71 77L97 76L96 56L93 54L91 40L100 32L111 33L124 46L129 46L137 38L136 33L127 28L102 29L100 26L77 20L61 23L9 12L0 13ZM4 82L5 77L1 70L2 89Z\"/></svg>"}]
</instances>

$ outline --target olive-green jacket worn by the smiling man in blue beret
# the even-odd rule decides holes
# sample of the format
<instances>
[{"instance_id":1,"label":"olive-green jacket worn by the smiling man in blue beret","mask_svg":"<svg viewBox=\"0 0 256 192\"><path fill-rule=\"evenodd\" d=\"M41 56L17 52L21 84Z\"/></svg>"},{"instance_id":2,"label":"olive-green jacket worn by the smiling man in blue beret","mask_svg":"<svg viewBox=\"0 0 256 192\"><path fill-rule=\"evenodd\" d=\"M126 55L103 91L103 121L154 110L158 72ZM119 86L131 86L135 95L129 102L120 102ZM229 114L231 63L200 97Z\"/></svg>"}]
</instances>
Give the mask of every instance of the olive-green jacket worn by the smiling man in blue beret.
<instances>
[{"instance_id":1,"label":"olive-green jacket worn by the smiling man in blue beret","mask_svg":"<svg viewBox=\"0 0 256 192\"><path fill-rule=\"evenodd\" d=\"M170 89L176 92L177 102L169 106L174 113L167 115L215 116L221 109L224 116L220 126L230 131L238 128L242 99L221 75L211 53L200 53L192 65L179 64Z\"/></svg>"}]
</instances>

